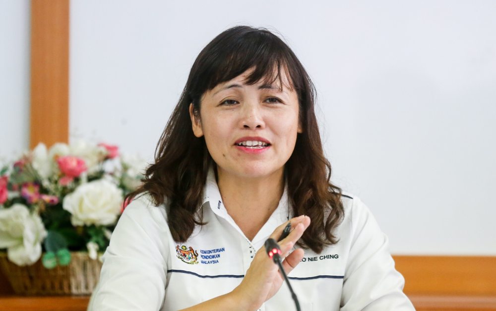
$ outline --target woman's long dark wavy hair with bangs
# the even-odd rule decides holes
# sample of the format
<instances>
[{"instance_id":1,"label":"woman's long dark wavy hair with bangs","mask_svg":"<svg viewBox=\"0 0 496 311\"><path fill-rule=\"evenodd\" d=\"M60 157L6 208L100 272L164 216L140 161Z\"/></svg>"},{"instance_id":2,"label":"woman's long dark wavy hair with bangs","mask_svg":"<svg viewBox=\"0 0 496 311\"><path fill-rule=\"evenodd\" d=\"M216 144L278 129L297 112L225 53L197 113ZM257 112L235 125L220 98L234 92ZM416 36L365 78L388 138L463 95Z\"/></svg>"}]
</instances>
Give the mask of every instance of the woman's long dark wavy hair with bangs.
<instances>
[{"instance_id":1,"label":"woman's long dark wavy hair with bangs","mask_svg":"<svg viewBox=\"0 0 496 311\"><path fill-rule=\"evenodd\" d=\"M265 28L236 26L215 37L198 55L155 151L155 163L145 173L143 184L126 200L148 192L155 205L167 202L172 237L185 242L196 225L204 225L202 190L207 172L215 166L203 137L195 137L188 112L199 116L201 96L222 82L253 68L245 83L279 79L289 75L298 94L303 132L285 165L289 201L294 216L310 216L310 227L298 242L319 253L324 245L337 243L333 234L344 216L341 189L331 184L331 165L324 157L314 113L315 88L293 51Z\"/></svg>"}]
</instances>

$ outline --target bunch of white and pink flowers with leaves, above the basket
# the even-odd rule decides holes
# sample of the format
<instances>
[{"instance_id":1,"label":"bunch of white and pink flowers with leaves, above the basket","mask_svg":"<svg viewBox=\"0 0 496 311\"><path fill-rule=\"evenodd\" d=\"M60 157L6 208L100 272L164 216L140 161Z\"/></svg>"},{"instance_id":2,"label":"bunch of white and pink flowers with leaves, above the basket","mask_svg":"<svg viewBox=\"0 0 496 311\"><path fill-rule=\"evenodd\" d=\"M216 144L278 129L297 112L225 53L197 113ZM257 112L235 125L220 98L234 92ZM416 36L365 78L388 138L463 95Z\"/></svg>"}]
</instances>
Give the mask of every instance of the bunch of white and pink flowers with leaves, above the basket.
<instances>
[{"instance_id":1,"label":"bunch of white and pink flowers with leaves, above the basket","mask_svg":"<svg viewBox=\"0 0 496 311\"><path fill-rule=\"evenodd\" d=\"M68 265L78 250L96 259L145 166L104 143L39 144L0 169L0 249L19 266Z\"/></svg>"}]
</instances>

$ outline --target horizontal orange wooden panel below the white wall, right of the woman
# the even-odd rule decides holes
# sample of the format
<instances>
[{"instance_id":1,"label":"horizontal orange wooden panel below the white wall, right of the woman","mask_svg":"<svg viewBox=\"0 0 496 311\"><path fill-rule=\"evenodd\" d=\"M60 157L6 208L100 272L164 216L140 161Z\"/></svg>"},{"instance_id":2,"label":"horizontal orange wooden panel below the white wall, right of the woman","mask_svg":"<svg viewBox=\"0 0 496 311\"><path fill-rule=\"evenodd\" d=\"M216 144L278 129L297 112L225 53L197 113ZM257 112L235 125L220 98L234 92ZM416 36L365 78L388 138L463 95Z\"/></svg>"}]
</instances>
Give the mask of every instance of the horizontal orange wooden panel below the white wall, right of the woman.
<instances>
[{"instance_id":1,"label":"horizontal orange wooden panel below the white wall, right of the woman","mask_svg":"<svg viewBox=\"0 0 496 311\"><path fill-rule=\"evenodd\" d=\"M407 294L496 296L496 257L393 257Z\"/></svg>"}]
</instances>

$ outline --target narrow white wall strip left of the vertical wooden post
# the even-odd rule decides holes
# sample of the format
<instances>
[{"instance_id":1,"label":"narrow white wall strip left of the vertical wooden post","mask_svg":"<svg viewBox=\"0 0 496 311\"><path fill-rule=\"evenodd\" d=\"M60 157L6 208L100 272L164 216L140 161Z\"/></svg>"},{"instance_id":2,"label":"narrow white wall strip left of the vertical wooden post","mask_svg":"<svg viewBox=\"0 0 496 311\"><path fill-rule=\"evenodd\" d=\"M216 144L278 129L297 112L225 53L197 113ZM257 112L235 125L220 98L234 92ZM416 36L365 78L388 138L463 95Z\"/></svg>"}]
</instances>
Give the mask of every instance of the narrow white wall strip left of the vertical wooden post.
<instances>
[{"instance_id":1,"label":"narrow white wall strip left of the vertical wooden post","mask_svg":"<svg viewBox=\"0 0 496 311\"><path fill-rule=\"evenodd\" d=\"M29 147L29 0L0 0L0 166Z\"/></svg>"}]
</instances>

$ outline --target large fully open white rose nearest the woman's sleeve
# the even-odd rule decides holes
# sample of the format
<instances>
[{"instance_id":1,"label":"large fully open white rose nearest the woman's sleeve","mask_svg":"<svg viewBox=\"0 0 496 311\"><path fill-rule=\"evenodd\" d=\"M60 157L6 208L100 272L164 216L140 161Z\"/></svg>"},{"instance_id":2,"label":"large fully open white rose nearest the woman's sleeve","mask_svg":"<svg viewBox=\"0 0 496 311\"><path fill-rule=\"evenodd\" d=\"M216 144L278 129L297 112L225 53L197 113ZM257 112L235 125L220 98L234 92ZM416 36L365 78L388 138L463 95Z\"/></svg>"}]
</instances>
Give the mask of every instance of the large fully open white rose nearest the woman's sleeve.
<instances>
[{"instance_id":1,"label":"large fully open white rose nearest the woman's sleeve","mask_svg":"<svg viewBox=\"0 0 496 311\"><path fill-rule=\"evenodd\" d=\"M63 209L72 214L72 225L111 225L123 206L123 192L107 180L83 184L62 202Z\"/></svg>"}]
</instances>

